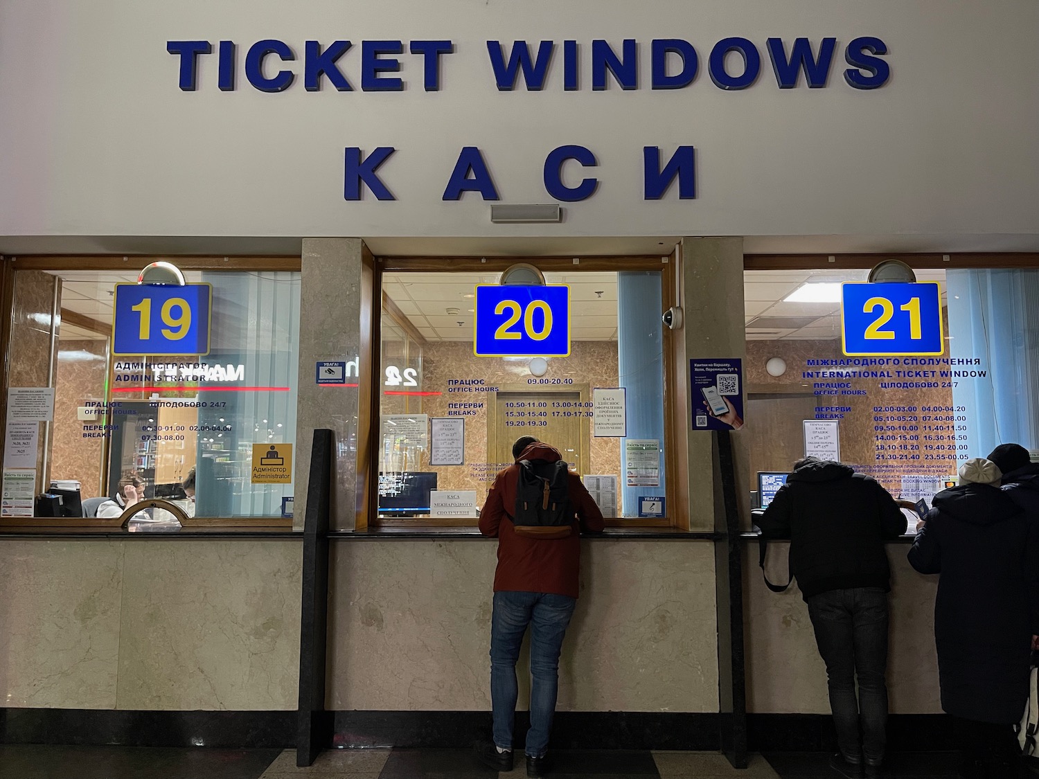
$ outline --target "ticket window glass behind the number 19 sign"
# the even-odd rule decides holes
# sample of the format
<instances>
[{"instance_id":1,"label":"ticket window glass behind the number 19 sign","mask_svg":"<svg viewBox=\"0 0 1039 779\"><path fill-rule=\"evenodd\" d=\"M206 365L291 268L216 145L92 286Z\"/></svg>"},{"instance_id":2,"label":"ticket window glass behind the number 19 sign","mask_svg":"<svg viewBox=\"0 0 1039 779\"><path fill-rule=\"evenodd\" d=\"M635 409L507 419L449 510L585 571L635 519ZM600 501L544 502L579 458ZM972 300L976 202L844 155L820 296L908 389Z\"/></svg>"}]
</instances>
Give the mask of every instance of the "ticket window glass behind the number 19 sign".
<instances>
[{"instance_id":1,"label":"ticket window glass behind the number 19 sign","mask_svg":"<svg viewBox=\"0 0 1039 779\"><path fill-rule=\"evenodd\" d=\"M16 272L9 386L53 392L50 419L19 428L34 433L34 457L5 451L5 473L18 466L31 476L23 492L76 489L89 517L122 511L128 494L165 499L199 518L283 515L283 499L293 493L299 274L188 270L185 277L209 285L210 305L199 315L208 318L208 354L116 353L115 286L135 284L136 272ZM188 315L172 306L163 316L174 324L155 326L176 332ZM272 445L284 467L256 472L256 456L270 460ZM25 510L5 504L4 515Z\"/></svg>"}]
</instances>

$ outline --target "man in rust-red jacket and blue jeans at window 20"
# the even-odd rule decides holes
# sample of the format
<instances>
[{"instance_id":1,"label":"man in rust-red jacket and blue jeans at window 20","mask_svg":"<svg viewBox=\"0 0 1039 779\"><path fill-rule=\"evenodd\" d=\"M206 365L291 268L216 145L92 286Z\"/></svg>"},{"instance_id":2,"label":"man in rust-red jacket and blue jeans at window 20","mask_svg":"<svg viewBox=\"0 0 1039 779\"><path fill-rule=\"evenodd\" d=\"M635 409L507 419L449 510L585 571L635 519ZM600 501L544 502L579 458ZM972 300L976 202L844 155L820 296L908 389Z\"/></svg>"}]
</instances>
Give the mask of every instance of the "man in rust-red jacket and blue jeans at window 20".
<instances>
[{"instance_id":1,"label":"man in rust-red jacket and blue jeans at window 20","mask_svg":"<svg viewBox=\"0 0 1039 779\"><path fill-rule=\"evenodd\" d=\"M527 776L547 770L545 753L559 688L559 652L578 597L582 530L603 530L603 512L581 477L567 475L574 521L569 528L529 528L512 523L521 460L562 459L559 451L530 435L512 446L515 463L495 478L480 512L480 532L498 537L495 610L490 621L490 700L494 743L477 745L480 759L498 771L512 770L512 724L516 707L516 661L531 626L530 730ZM548 534L544 533L548 531Z\"/></svg>"}]
</instances>

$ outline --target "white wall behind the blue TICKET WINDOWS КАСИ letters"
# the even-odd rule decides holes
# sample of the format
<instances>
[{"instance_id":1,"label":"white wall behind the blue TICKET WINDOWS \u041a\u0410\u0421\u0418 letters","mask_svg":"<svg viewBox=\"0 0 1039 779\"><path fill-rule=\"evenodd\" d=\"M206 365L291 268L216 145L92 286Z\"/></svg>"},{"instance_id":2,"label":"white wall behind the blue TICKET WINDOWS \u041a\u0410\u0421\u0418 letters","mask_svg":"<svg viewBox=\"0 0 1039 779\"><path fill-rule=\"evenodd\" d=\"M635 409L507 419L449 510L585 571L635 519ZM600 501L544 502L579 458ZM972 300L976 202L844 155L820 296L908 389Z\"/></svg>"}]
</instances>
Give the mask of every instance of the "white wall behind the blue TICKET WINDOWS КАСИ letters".
<instances>
[{"instance_id":1,"label":"white wall behind the blue TICKET WINDOWS \u041a\u0410\u0421\u0418 letters","mask_svg":"<svg viewBox=\"0 0 1039 779\"><path fill-rule=\"evenodd\" d=\"M1030 236L1039 248L1039 71L1033 0L6 0L0 3L0 236ZM758 81L717 88L711 48L743 35ZM765 41L837 38L829 85L777 88ZM850 88L844 47L877 35L891 78ZM649 42L685 37L696 81L649 89ZM359 87L362 39L450 38L441 91L402 55L402 92L264 93L245 49L275 37L354 42L341 60ZM499 92L485 41L640 44L640 88ZM178 88L168 39L239 44L238 88ZM272 70L269 63L268 71ZM300 73L302 63L294 70ZM494 225L488 204L441 199L462 145L483 150L503 203L547 203L544 155L598 156L598 192L554 225ZM697 147L698 198L642 199L641 150ZM343 199L343 147L393 145L380 172L397 196ZM964 244L965 245L965 244ZM984 241L973 241L984 248ZM936 244L937 246L937 244ZM0 250L5 248L0 239ZM8 247L9 250L9 247Z\"/></svg>"}]
</instances>

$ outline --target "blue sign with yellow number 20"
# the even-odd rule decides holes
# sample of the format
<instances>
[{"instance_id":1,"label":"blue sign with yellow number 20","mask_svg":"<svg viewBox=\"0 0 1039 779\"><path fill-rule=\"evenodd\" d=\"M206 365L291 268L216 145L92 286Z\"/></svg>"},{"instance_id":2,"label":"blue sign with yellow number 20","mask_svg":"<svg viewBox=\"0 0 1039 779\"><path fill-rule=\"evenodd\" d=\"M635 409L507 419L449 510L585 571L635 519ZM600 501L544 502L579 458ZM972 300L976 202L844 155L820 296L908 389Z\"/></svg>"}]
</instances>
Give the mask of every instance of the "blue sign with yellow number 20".
<instances>
[{"instance_id":1,"label":"blue sign with yellow number 20","mask_svg":"<svg viewBox=\"0 0 1039 779\"><path fill-rule=\"evenodd\" d=\"M473 353L478 357L565 357L570 353L568 287L476 288Z\"/></svg>"}]
</instances>

